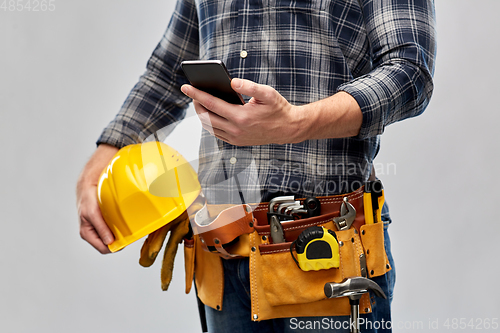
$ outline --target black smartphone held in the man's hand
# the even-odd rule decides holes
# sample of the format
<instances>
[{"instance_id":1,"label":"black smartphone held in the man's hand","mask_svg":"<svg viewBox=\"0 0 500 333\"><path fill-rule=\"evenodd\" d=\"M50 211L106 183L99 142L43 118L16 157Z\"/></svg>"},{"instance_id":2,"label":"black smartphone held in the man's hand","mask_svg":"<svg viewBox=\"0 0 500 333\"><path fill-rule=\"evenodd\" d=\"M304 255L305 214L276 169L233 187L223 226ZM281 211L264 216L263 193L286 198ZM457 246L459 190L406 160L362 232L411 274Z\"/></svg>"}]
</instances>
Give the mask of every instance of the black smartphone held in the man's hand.
<instances>
[{"instance_id":1,"label":"black smartphone held in the man's hand","mask_svg":"<svg viewBox=\"0 0 500 333\"><path fill-rule=\"evenodd\" d=\"M183 61L181 67L193 87L231 104L245 104L231 88L231 76L221 60Z\"/></svg>"}]
</instances>

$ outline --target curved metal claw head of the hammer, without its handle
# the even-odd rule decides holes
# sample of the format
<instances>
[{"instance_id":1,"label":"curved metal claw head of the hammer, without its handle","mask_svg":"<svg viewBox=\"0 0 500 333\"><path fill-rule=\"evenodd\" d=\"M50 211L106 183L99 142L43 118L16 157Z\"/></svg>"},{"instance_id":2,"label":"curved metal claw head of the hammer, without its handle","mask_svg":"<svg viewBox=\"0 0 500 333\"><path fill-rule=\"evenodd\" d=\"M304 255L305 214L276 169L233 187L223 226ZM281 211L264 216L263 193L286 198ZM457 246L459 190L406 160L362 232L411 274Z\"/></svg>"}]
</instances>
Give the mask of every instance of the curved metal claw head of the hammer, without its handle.
<instances>
[{"instance_id":1,"label":"curved metal claw head of the hammer, without its handle","mask_svg":"<svg viewBox=\"0 0 500 333\"><path fill-rule=\"evenodd\" d=\"M328 298L357 296L372 290L375 295L387 299L382 288L373 280L364 277L352 277L344 279L340 283L328 282L325 284L325 295Z\"/></svg>"}]
</instances>

